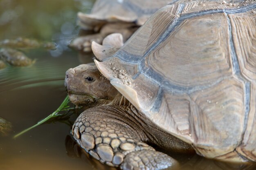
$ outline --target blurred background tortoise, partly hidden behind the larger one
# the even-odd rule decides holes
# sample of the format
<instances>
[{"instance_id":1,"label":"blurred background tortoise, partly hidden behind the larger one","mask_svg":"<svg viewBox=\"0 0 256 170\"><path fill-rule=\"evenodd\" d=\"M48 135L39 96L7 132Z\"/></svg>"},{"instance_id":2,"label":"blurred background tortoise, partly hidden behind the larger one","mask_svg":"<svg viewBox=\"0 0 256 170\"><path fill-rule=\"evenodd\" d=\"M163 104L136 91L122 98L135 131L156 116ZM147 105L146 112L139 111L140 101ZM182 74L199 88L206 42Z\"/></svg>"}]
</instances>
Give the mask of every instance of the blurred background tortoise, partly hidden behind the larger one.
<instances>
[{"instance_id":1,"label":"blurred background tortoise, partly hidden behind the larger one","mask_svg":"<svg viewBox=\"0 0 256 170\"><path fill-rule=\"evenodd\" d=\"M75 38L70 47L91 52L91 43L101 44L111 33L121 33L124 41L161 7L188 0L97 0L90 14L79 12L78 24L96 33Z\"/></svg>"}]
</instances>

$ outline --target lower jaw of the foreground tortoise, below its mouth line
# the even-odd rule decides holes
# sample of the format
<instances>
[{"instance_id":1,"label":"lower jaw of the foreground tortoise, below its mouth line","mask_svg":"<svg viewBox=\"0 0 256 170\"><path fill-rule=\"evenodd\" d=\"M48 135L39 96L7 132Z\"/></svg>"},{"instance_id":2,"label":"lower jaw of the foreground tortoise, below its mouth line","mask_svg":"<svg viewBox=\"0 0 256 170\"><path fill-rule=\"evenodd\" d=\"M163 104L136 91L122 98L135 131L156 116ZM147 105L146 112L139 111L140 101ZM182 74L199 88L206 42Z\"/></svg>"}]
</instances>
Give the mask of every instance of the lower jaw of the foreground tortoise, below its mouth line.
<instances>
[{"instance_id":1,"label":"lower jaw of the foreground tortoise, below its mouth line","mask_svg":"<svg viewBox=\"0 0 256 170\"><path fill-rule=\"evenodd\" d=\"M67 91L70 101L75 105L86 106L96 102L96 99L85 93L77 93L74 91Z\"/></svg>"}]
</instances>

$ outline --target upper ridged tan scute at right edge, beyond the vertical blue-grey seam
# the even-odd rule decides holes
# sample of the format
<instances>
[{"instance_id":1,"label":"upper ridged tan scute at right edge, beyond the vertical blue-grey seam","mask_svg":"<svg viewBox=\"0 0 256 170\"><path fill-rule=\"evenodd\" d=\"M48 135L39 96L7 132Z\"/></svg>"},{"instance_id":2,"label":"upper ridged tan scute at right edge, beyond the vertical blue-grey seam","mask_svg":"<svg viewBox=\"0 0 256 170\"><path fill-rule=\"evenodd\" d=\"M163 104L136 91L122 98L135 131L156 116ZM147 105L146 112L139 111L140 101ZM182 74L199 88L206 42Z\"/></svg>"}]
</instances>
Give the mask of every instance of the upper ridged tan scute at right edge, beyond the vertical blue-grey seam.
<instances>
[{"instance_id":1,"label":"upper ridged tan scute at right edge, beyond the vertical blue-grey seam","mask_svg":"<svg viewBox=\"0 0 256 170\"><path fill-rule=\"evenodd\" d=\"M241 74L256 81L256 13L229 14Z\"/></svg>"}]
</instances>

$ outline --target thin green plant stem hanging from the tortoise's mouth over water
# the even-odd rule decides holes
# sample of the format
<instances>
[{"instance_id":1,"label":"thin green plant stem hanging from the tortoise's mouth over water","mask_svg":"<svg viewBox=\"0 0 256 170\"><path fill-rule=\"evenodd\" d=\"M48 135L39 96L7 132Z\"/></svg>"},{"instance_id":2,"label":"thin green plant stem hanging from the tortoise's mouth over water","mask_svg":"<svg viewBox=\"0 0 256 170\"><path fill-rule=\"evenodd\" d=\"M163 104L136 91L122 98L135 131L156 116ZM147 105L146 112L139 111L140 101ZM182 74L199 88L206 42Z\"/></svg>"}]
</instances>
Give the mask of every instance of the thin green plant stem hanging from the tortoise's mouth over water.
<instances>
[{"instance_id":1,"label":"thin green plant stem hanging from the tortoise's mouth over water","mask_svg":"<svg viewBox=\"0 0 256 170\"><path fill-rule=\"evenodd\" d=\"M44 118L44 119L38 121L37 124L35 124L34 126L31 126L31 127L27 128L27 129L25 129L25 130L22 130L22 131L19 132L17 135L15 135L13 138L19 137L20 135L22 135L22 134L24 134L25 132L27 132L27 131L29 131L29 130L35 128L36 126L39 126L40 124L45 123L45 122L48 121L49 119L52 119L52 118L54 118L54 117L57 117L57 116L58 116L57 114L58 114L60 111L62 111L62 110L70 110L70 109L67 109L67 104L68 104L68 102L69 102L69 98L68 98L68 96L66 96L66 98L65 98L64 101L62 102L61 106L59 106L59 107L57 108L57 110L55 110L51 115L49 115L49 116L47 116L46 118ZM63 108L64 108L64 109L63 109ZM71 109L72 109L72 108L71 108Z\"/></svg>"}]
</instances>

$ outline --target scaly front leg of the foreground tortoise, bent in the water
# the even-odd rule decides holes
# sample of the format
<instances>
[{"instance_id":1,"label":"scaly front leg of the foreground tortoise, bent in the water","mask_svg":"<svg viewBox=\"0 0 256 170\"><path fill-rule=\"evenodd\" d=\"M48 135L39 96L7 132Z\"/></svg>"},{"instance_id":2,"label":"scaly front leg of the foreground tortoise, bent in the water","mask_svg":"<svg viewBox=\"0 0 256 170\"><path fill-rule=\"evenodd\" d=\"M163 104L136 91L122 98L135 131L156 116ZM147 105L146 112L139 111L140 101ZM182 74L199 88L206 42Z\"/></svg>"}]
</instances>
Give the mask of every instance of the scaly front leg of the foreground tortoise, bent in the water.
<instances>
[{"instance_id":1,"label":"scaly front leg of the foreground tortoise, bent in the water","mask_svg":"<svg viewBox=\"0 0 256 170\"><path fill-rule=\"evenodd\" d=\"M124 116L125 106L100 106L85 110L74 123L72 135L95 159L123 170L160 170L178 165L168 155L142 141L141 126ZM122 112L122 113L121 113Z\"/></svg>"}]
</instances>

